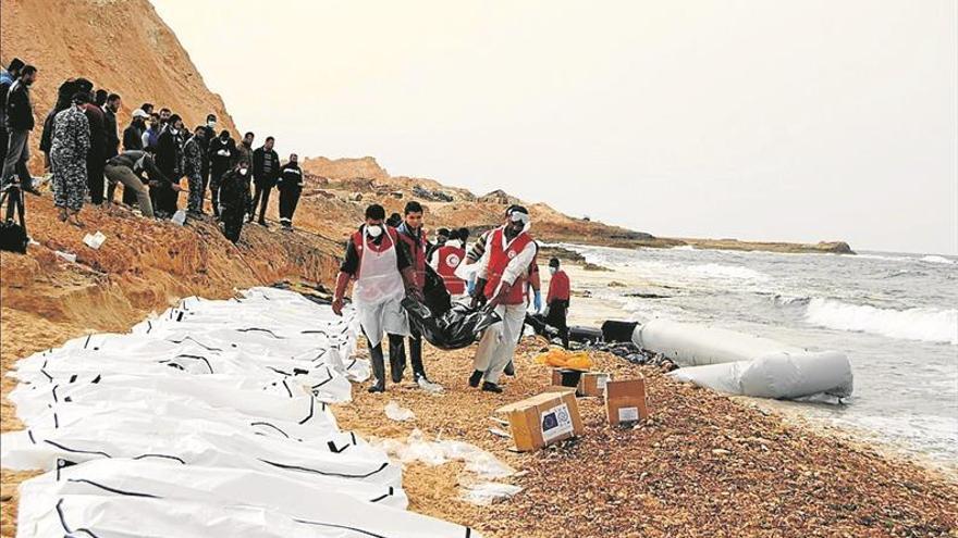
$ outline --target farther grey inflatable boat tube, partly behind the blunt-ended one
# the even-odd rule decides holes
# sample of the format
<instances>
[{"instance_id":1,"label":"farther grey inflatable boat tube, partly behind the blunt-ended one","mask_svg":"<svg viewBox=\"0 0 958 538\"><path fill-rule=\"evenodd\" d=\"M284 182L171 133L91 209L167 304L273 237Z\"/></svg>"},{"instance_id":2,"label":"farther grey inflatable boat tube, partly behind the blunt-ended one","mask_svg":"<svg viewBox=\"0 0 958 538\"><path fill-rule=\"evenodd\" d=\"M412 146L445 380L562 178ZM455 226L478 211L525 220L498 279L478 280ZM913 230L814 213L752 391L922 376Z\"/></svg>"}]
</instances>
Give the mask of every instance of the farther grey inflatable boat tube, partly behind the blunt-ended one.
<instances>
[{"instance_id":1,"label":"farther grey inflatable boat tube, partly behind the blunt-ended one","mask_svg":"<svg viewBox=\"0 0 958 538\"><path fill-rule=\"evenodd\" d=\"M632 343L679 366L752 361L772 353L805 350L779 341L702 325L653 320L632 331Z\"/></svg>"}]
</instances>

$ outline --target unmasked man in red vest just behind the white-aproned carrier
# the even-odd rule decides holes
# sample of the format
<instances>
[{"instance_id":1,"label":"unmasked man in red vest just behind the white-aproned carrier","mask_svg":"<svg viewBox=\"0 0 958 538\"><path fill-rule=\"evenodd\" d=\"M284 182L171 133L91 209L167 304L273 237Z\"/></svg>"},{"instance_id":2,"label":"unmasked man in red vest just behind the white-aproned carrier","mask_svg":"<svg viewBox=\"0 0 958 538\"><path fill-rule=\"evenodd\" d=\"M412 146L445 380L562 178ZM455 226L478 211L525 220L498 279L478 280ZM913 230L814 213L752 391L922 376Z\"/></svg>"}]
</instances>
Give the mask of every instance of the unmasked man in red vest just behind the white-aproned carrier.
<instances>
[{"instance_id":1,"label":"unmasked man in red vest just behind the white-aproned carrier","mask_svg":"<svg viewBox=\"0 0 958 538\"><path fill-rule=\"evenodd\" d=\"M403 224L396 227L400 241L409 253L409 262L413 265L416 289L422 292L426 286L426 253L431 247L426 240L422 230L422 205L417 201L406 203L403 211ZM422 335L416 327L409 327L409 362L413 364L413 380L419 385L420 380L429 381L426 377L426 368L422 365ZM405 338L390 339L390 367L393 383L403 380L403 371L406 367Z\"/></svg>"}]
</instances>

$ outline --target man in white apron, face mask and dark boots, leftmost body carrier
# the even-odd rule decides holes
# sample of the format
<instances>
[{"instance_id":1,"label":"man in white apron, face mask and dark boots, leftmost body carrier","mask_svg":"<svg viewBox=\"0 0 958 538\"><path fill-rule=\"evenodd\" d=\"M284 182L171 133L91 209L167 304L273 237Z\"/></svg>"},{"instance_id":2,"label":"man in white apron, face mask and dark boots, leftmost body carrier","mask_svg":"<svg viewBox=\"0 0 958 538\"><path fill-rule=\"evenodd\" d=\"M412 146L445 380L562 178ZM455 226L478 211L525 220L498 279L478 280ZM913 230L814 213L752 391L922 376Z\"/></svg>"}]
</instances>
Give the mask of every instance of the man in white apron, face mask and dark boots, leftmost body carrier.
<instances>
[{"instance_id":1,"label":"man in white apron, face mask and dark boots, leftmost body carrier","mask_svg":"<svg viewBox=\"0 0 958 538\"><path fill-rule=\"evenodd\" d=\"M372 204L366 208L366 224L349 237L346 257L336 276L333 313L343 315L343 297L351 279L353 305L369 343L372 375L370 392L385 391L383 335L390 335L391 347L409 334L409 322L401 301L408 293L421 299L413 274L413 263L396 230L385 226L385 210ZM392 365L395 368L395 364ZM396 372L393 370L393 378ZM402 376L402 373L400 374Z\"/></svg>"}]
</instances>

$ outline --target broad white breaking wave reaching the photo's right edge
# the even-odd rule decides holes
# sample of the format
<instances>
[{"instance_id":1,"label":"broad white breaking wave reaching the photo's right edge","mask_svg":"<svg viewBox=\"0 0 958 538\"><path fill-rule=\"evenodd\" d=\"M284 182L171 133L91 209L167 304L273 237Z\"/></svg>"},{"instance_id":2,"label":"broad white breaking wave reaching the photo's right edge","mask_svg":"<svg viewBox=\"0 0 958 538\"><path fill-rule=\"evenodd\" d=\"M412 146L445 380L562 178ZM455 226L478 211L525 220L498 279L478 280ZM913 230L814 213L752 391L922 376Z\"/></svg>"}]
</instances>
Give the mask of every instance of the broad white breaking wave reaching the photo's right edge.
<instances>
[{"instance_id":1,"label":"broad white breaking wave reaching the photo's right edge","mask_svg":"<svg viewBox=\"0 0 958 538\"><path fill-rule=\"evenodd\" d=\"M880 309L814 298L809 301L806 321L838 330L958 345L958 310L955 309Z\"/></svg>"}]
</instances>

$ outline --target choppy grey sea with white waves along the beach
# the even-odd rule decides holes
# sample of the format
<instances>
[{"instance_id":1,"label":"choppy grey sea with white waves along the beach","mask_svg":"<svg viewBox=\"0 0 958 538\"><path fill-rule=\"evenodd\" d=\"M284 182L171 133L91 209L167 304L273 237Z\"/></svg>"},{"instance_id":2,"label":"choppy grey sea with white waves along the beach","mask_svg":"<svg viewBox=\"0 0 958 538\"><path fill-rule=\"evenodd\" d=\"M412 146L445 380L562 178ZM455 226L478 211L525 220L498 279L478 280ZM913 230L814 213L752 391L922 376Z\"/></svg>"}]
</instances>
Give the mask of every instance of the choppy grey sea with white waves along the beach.
<instances>
[{"instance_id":1,"label":"choppy grey sea with white waves along the beach","mask_svg":"<svg viewBox=\"0 0 958 538\"><path fill-rule=\"evenodd\" d=\"M802 404L802 414L948 467L958 462L955 258L564 247L616 270L610 279L626 287L589 291L621 304L624 317L708 323L846 353L853 396Z\"/></svg>"}]
</instances>

